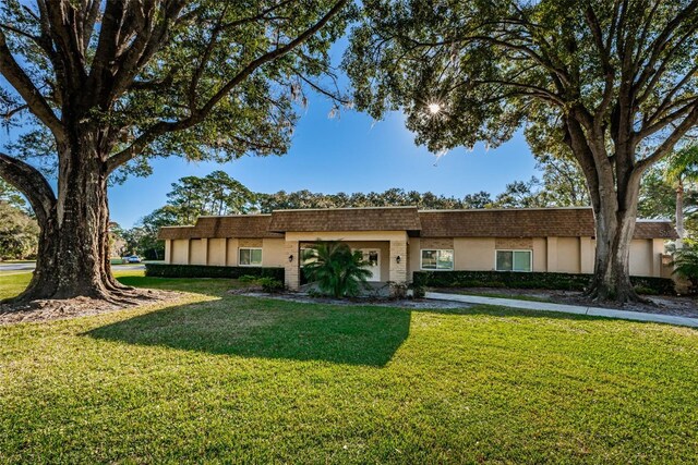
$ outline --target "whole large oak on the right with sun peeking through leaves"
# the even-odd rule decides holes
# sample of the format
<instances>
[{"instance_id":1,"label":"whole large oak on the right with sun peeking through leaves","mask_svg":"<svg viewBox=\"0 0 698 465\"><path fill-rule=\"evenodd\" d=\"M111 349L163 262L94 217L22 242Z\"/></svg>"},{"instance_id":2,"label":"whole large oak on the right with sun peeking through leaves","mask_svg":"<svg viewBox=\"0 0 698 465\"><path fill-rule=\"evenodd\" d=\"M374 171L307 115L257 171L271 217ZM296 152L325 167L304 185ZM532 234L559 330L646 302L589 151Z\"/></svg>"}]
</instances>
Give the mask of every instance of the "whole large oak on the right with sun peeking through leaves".
<instances>
[{"instance_id":1,"label":"whole large oak on the right with sun peeking through leaves","mask_svg":"<svg viewBox=\"0 0 698 465\"><path fill-rule=\"evenodd\" d=\"M404 109L438 151L526 129L570 154L597 222L590 294L628 277L642 173L698 123L696 0L365 0L345 66L375 118ZM564 145L565 148L559 148Z\"/></svg>"}]
</instances>

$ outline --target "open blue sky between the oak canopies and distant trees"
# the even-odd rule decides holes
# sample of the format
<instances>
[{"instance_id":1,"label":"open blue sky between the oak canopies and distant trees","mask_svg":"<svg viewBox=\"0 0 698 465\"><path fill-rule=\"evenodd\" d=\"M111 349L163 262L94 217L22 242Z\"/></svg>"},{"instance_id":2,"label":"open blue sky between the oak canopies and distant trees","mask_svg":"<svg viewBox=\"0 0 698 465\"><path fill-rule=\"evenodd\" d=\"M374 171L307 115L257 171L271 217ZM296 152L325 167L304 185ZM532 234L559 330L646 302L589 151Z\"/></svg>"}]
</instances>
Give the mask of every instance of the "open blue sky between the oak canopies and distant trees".
<instances>
[{"instance_id":1,"label":"open blue sky between the oak canopies and distant trees","mask_svg":"<svg viewBox=\"0 0 698 465\"><path fill-rule=\"evenodd\" d=\"M131 227L139 218L163 206L170 184L185 175L205 175L221 169L254 192L278 191L382 192L390 187L431 191L462 197L488 191L496 194L515 180L535 174L535 161L521 135L496 149L479 145L455 149L436 158L414 145L400 113L374 122L356 111L329 119L330 105L312 96L282 157L243 157L218 164L159 159L154 174L133 178L110 189L115 221Z\"/></svg>"}]
</instances>

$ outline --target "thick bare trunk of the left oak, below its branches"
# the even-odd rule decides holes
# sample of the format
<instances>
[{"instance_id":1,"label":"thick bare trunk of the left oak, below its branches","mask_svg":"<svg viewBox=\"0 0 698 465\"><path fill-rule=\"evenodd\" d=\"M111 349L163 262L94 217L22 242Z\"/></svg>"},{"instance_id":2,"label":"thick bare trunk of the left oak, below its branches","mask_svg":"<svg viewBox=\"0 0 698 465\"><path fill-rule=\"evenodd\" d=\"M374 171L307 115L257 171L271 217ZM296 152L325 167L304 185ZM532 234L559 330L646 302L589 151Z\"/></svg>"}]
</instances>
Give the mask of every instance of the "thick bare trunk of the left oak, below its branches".
<instances>
[{"instance_id":1,"label":"thick bare trunk of the left oak, below its branches","mask_svg":"<svg viewBox=\"0 0 698 465\"><path fill-rule=\"evenodd\" d=\"M36 270L19 302L77 296L117 302L128 296L129 287L111 276L108 173L92 138L77 140L61 152L58 199L39 221Z\"/></svg>"}]
</instances>

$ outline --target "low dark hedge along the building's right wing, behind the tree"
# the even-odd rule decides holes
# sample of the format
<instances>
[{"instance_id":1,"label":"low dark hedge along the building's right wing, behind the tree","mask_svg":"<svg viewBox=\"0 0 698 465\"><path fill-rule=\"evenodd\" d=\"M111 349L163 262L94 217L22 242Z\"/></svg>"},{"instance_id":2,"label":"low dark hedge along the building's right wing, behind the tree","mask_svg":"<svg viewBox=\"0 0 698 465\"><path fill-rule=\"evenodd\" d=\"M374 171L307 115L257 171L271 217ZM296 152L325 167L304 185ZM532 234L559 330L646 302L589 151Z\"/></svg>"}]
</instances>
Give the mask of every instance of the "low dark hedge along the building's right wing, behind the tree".
<instances>
[{"instance_id":1,"label":"low dark hedge along the building's right wing, behind the tree","mask_svg":"<svg viewBox=\"0 0 698 465\"><path fill-rule=\"evenodd\" d=\"M426 287L514 287L583 291L592 274L513 271L414 271L413 285ZM669 278L630 277L641 294L675 294Z\"/></svg>"}]
</instances>

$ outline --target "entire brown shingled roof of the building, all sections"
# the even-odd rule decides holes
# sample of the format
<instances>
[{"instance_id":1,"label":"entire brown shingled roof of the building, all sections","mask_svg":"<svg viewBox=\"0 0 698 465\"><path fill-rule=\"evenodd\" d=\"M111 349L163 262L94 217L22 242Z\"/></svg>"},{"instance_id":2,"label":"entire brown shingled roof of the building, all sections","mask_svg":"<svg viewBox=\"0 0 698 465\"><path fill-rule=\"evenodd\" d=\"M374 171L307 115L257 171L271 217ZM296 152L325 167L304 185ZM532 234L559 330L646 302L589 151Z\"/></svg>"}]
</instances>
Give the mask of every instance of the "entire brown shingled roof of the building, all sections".
<instances>
[{"instance_id":1,"label":"entire brown shingled roof of the building, all sections","mask_svg":"<svg viewBox=\"0 0 698 465\"><path fill-rule=\"evenodd\" d=\"M593 237L591 208L426 210L416 207L277 210L202 217L194 227L160 229L158 238L284 237L297 231L408 231L422 237ZM635 238L676 238L667 221L638 220Z\"/></svg>"}]
</instances>

